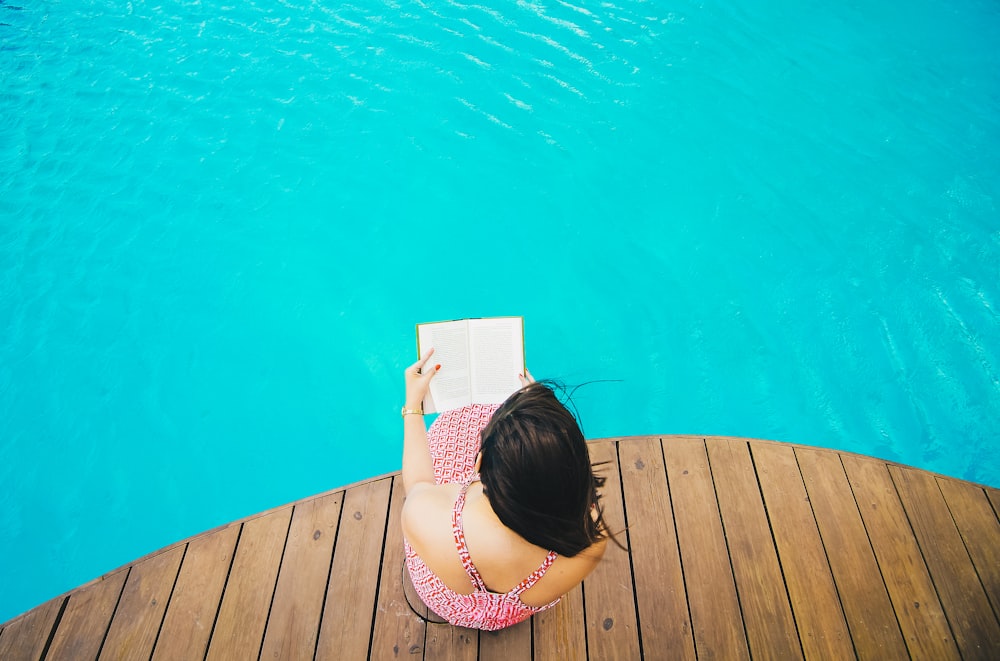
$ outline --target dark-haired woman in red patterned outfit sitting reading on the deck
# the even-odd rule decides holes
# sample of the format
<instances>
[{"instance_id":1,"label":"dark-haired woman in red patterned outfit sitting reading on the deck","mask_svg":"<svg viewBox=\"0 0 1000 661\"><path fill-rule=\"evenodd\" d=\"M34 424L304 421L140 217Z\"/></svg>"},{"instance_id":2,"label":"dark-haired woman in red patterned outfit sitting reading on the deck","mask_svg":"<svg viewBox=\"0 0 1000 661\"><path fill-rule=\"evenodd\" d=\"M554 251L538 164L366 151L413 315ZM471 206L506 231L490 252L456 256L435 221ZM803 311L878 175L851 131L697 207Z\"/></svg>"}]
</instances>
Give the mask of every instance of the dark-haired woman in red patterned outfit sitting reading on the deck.
<instances>
[{"instance_id":1,"label":"dark-haired woman in red patterned outfit sitting reading on the deck","mask_svg":"<svg viewBox=\"0 0 1000 661\"><path fill-rule=\"evenodd\" d=\"M451 624L496 630L551 608L604 554L608 532L583 433L543 383L499 405L422 402L440 365L405 371L403 535L417 593Z\"/></svg>"}]
</instances>

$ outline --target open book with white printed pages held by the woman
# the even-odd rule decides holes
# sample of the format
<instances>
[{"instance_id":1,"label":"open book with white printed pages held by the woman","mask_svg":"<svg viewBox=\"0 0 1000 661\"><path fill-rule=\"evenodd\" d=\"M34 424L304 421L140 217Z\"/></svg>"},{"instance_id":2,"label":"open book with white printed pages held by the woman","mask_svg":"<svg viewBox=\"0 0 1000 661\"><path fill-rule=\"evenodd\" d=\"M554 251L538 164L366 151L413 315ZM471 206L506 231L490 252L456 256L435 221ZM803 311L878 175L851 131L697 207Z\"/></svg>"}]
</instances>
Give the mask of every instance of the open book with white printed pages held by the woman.
<instances>
[{"instance_id":1,"label":"open book with white printed pages held by the woman","mask_svg":"<svg viewBox=\"0 0 1000 661\"><path fill-rule=\"evenodd\" d=\"M417 354L434 348L441 365L424 399L425 413L470 404L500 404L521 388L524 318L490 317L417 324Z\"/></svg>"}]
</instances>

